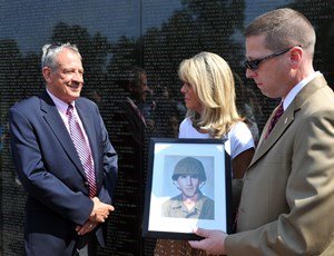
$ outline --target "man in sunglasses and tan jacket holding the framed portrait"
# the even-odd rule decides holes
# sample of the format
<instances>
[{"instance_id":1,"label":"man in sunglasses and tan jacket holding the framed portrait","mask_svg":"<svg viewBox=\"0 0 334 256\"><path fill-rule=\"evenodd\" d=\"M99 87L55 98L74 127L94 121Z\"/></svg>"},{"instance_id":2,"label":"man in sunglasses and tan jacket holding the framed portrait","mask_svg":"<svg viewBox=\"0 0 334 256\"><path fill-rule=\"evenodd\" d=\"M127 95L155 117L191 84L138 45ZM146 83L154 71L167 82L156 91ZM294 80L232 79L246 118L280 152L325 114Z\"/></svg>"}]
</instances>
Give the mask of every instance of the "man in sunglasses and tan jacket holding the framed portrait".
<instances>
[{"instance_id":1,"label":"man in sunglasses and tan jacket holding the framed portrait","mask_svg":"<svg viewBox=\"0 0 334 256\"><path fill-rule=\"evenodd\" d=\"M237 234L195 229L205 239L190 245L208 254L334 255L334 93L313 68L314 28L283 8L256 18L245 37L247 78L281 104L244 176Z\"/></svg>"}]
</instances>

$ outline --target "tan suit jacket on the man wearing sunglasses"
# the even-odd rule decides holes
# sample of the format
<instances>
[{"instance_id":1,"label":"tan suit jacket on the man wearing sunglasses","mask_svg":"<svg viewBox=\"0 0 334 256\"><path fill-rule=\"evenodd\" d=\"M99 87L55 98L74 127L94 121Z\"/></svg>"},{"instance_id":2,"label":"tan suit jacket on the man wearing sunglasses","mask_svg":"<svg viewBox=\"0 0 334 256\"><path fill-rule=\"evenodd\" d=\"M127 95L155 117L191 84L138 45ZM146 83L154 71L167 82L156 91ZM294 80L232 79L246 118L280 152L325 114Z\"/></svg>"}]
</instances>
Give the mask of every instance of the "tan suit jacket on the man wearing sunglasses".
<instances>
[{"instance_id":1,"label":"tan suit jacket on the man wearing sunglasses","mask_svg":"<svg viewBox=\"0 0 334 256\"><path fill-rule=\"evenodd\" d=\"M264 141L267 126L227 254L334 255L334 93L324 77L298 92Z\"/></svg>"}]
</instances>

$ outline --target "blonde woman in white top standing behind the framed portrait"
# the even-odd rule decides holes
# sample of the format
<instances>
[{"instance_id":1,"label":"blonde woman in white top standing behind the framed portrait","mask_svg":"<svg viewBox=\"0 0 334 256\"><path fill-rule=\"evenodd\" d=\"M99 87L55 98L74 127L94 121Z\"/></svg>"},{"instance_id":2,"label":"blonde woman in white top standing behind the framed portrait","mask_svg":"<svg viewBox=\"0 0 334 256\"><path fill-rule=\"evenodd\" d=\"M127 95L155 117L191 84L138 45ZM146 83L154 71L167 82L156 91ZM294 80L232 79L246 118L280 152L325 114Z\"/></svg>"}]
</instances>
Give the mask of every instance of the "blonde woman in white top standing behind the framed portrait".
<instances>
[{"instance_id":1,"label":"blonde woman in white top standing behind the framed portrait","mask_svg":"<svg viewBox=\"0 0 334 256\"><path fill-rule=\"evenodd\" d=\"M242 178L254 154L254 140L235 105L232 70L218 55L200 52L181 61L180 91L187 107L179 126L179 138L226 138L233 177ZM186 240L159 239L155 255L205 255Z\"/></svg>"}]
</instances>

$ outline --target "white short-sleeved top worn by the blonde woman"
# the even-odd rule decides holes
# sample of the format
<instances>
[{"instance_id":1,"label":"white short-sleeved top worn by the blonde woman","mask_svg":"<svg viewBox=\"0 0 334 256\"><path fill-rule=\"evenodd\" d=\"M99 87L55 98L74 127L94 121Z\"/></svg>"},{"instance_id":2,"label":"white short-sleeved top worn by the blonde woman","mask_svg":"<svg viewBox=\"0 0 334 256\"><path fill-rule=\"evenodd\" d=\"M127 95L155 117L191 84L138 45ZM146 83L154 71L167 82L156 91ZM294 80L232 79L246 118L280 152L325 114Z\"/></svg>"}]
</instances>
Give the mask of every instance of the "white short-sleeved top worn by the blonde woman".
<instances>
[{"instance_id":1,"label":"white short-sleeved top worn by the blonde woman","mask_svg":"<svg viewBox=\"0 0 334 256\"><path fill-rule=\"evenodd\" d=\"M190 118L186 118L179 125L179 138L191 138L191 139L209 139L209 134L198 132L193 126ZM235 158L240 152L255 148L254 139L252 132L247 125L243 121L235 124L232 129L223 138L226 138L225 150L230 156Z\"/></svg>"}]
</instances>

